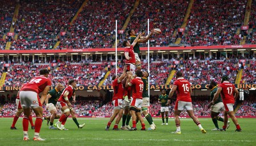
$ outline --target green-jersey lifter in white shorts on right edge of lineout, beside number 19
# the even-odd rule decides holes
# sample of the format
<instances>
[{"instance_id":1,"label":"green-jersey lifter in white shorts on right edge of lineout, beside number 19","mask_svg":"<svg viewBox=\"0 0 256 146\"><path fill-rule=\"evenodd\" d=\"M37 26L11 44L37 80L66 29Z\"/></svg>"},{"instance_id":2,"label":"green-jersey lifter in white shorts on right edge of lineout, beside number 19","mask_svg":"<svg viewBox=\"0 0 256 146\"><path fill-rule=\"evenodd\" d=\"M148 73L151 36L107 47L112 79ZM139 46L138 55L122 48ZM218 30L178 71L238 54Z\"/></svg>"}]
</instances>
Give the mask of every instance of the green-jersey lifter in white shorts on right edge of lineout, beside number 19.
<instances>
[{"instance_id":1,"label":"green-jersey lifter in white shorts on right edge of lineout, beside number 19","mask_svg":"<svg viewBox=\"0 0 256 146\"><path fill-rule=\"evenodd\" d=\"M148 72L143 71L143 77L141 77L141 80L143 81L144 86L143 86L143 93L142 93L143 99L142 99L141 111L142 111L142 114L147 119L148 123L150 124L150 128L148 128L148 130L154 130L156 129L156 125L154 124L150 113L148 113L148 107L149 107L148 76L149 76Z\"/></svg>"}]
</instances>

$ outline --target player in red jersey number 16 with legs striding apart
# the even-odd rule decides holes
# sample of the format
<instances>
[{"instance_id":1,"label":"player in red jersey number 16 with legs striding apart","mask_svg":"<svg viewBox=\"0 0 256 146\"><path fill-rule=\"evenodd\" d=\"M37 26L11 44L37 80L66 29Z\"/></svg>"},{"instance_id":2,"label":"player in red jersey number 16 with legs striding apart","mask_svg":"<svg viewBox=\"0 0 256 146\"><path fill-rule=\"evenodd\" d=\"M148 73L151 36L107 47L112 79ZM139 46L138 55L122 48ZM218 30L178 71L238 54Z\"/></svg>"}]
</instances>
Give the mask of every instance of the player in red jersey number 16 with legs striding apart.
<instances>
[{"instance_id":1,"label":"player in red jersey number 16 with legs striding apart","mask_svg":"<svg viewBox=\"0 0 256 146\"><path fill-rule=\"evenodd\" d=\"M202 133L206 133L205 129L202 128L199 120L193 112L192 100L190 96L192 93L191 84L188 82L188 80L182 77L181 72L176 73L176 78L177 80L175 80L173 83L172 90L169 93L169 98L172 98L173 93L177 91L177 100L174 108L176 131L174 131L173 134L181 134L179 115L184 109L188 112L189 117L193 119L200 131L202 131ZM168 99L168 103L170 104L170 99Z\"/></svg>"}]
</instances>

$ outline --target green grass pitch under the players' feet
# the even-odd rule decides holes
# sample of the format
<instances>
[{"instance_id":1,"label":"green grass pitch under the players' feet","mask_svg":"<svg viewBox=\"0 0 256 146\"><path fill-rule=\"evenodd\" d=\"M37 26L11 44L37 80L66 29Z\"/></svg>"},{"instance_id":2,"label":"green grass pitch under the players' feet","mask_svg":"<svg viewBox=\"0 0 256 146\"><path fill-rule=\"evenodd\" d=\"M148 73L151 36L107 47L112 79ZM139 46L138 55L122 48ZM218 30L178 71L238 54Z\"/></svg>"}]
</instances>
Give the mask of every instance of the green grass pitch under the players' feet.
<instances>
[{"instance_id":1,"label":"green grass pitch under the players' feet","mask_svg":"<svg viewBox=\"0 0 256 146\"><path fill-rule=\"evenodd\" d=\"M33 119L35 122L35 119ZM78 129L72 118L68 118L65 128L69 131L48 129L44 120L40 136L44 142L33 142L34 131L29 124L28 142L24 142L22 132L22 118L16 124L17 130L11 130L12 118L0 118L0 145L255 145L256 119L238 119L242 132L235 132L236 127L230 122L230 128L225 132L211 131L214 124L211 119L199 119L207 131L201 133L191 119L181 120L181 135L174 135L174 119L169 119L168 126L161 126L160 118L154 119L157 129L154 131L140 131L140 122L137 131L113 131L114 123L109 131L105 131L108 118L79 118L80 124L86 123L83 129ZM145 119L144 119L145 120ZM231 119L229 119L231 120ZM56 122L57 120L54 120ZM146 128L149 128L145 120ZM220 128L222 123L218 122ZM119 128L120 128L119 124ZM131 125L131 122L130 122Z\"/></svg>"}]
</instances>

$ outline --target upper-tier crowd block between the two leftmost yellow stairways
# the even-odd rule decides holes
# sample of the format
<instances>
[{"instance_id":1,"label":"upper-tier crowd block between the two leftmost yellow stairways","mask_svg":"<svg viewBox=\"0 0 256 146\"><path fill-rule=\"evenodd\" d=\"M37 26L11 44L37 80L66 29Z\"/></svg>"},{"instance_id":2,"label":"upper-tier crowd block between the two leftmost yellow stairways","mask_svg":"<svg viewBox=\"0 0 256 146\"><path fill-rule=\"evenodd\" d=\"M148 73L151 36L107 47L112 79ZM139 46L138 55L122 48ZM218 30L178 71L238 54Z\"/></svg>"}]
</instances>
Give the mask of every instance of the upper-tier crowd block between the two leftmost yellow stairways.
<instances>
[{"instance_id":1,"label":"upper-tier crowd block between the two leftmost yellow stairways","mask_svg":"<svg viewBox=\"0 0 256 146\"><path fill-rule=\"evenodd\" d=\"M21 1L12 50L52 49L83 1Z\"/></svg>"}]
</instances>

